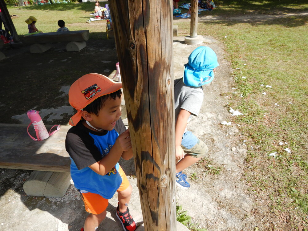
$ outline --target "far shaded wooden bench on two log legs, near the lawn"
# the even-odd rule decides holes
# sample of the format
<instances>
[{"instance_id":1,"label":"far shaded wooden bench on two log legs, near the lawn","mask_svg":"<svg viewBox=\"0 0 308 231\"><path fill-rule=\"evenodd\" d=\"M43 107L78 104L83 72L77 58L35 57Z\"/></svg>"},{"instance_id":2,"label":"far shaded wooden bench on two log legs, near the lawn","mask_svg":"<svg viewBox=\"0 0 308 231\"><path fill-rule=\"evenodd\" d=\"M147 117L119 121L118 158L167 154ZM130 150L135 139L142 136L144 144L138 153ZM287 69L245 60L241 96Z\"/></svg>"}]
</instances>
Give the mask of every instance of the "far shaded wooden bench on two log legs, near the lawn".
<instances>
[{"instance_id":1,"label":"far shaded wooden bench on two log legs, near the lawn","mask_svg":"<svg viewBox=\"0 0 308 231\"><path fill-rule=\"evenodd\" d=\"M87 46L89 30L75 30L65 32L48 32L31 34L20 38L24 44L33 44L30 47L31 53L43 53L51 48L50 43L68 42L67 51L80 51Z\"/></svg>"}]
</instances>

